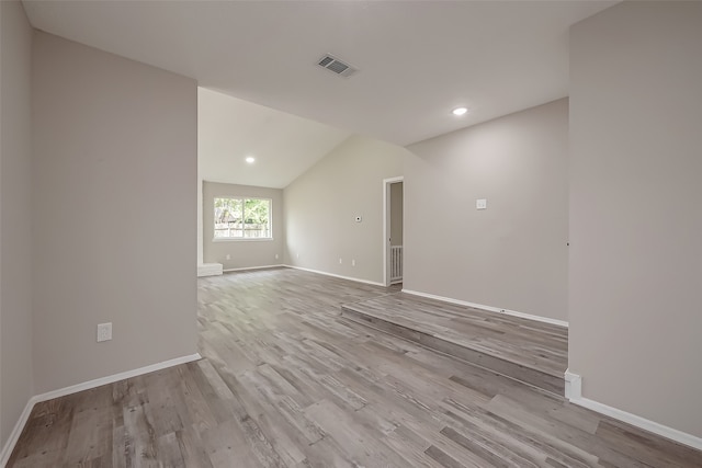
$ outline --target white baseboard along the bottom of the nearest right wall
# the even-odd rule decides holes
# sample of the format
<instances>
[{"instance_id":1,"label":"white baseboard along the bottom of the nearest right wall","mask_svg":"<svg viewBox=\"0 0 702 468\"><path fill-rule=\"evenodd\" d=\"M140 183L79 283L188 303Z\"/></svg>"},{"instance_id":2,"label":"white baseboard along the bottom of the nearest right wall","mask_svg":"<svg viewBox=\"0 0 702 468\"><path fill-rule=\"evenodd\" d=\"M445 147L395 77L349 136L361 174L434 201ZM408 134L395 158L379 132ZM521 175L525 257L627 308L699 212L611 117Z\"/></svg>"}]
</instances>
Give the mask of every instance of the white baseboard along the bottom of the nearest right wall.
<instances>
[{"instance_id":1,"label":"white baseboard along the bottom of the nearest right wall","mask_svg":"<svg viewBox=\"0 0 702 468\"><path fill-rule=\"evenodd\" d=\"M577 383L577 391L574 391L573 396L570 397L568 397L567 393L568 378L570 378L571 381ZM661 437L669 438L670 441L677 442L679 444L687 445L698 450L702 450L701 437L688 434L687 432L678 431L677 429L668 427L667 425L663 425L655 421L650 421L636 414L629 413L618 408L609 407L607 404L600 403L599 401L584 398L580 392L581 383L582 378L579 375L573 374L569 369L566 370L566 398L568 398L568 400L570 400L573 404L587 408L588 410L592 410L600 414L604 414L605 416L625 422L633 426L643 429L644 431L648 431L656 435L660 435Z\"/></svg>"}]
</instances>

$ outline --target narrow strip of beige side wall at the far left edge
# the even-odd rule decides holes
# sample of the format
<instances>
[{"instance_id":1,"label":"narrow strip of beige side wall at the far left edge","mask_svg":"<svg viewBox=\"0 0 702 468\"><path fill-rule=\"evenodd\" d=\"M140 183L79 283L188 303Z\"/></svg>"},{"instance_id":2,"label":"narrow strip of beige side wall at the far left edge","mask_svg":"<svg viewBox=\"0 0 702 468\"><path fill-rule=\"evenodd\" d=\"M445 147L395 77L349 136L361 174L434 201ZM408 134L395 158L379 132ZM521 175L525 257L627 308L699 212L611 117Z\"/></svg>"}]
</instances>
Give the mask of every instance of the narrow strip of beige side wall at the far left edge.
<instances>
[{"instance_id":1,"label":"narrow strip of beige side wall at the far left edge","mask_svg":"<svg viewBox=\"0 0 702 468\"><path fill-rule=\"evenodd\" d=\"M0 448L33 395L31 298L32 28L0 2Z\"/></svg>"}]
</instances>

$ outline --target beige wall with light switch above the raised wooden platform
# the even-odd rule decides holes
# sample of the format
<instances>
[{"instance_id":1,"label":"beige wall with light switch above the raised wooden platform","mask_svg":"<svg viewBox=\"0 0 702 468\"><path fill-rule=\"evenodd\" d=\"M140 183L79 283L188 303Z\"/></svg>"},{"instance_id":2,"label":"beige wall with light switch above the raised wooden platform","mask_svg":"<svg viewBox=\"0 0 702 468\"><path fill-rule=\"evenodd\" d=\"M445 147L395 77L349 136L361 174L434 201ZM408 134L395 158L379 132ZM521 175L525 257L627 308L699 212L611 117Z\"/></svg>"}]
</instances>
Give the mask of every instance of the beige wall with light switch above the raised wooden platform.
<instances>
[{"instance_id":1,"label":"beige wall with light switch above the raised wooden platform","mask_svg":"<svg viewBox=\"0 0 702 468\"><path fill-rule=\"evenodd\" d=\"M567 321L567 146L563 99L408 147L404 288Z\"/></svg>"}]
</instances>

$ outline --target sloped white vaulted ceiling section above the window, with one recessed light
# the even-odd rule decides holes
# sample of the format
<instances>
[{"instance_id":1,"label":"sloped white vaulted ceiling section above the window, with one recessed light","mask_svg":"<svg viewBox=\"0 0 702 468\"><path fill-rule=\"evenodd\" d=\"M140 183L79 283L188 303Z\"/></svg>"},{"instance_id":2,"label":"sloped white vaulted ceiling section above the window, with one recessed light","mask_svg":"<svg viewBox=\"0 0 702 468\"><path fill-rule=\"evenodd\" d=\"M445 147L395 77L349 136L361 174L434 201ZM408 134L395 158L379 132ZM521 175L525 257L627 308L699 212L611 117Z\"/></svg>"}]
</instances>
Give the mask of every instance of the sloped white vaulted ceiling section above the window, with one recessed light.
<instances>
[{"instance_id":1,"label":"sloped white vaulted ceiling section above the window, with one recessed light","mask_svg":"<svg viewBox=\"0 0 702 468\"><path fill-rule=\"evenodd\" d=\"M283 189L351 135L216 91L197 91L199 173ZM246 158L256 158L252 164Z\"/></svg>"}]
</instances>

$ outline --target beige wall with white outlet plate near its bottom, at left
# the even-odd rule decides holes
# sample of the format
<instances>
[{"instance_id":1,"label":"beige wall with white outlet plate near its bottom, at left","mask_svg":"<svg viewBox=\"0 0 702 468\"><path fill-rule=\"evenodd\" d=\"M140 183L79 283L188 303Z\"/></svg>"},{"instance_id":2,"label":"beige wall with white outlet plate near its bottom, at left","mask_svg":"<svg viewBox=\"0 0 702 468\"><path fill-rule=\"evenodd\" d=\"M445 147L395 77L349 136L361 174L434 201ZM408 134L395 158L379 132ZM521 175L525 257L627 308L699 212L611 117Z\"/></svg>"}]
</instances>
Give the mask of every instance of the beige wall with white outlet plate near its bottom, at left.
<instances>
[{"instance_id":1,"label":"beige wall with white outlet plate near its bottom, at left","mask_svg":"<svg viewBox=\"0 0 702 468\"><path fill-rule=\"evenodd\" d=\"M196 353L195 81L42 32L33 67L36 392Z\"/></svg>"}]
</instances>

